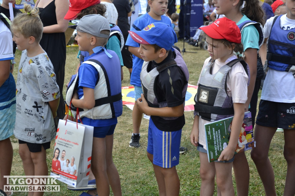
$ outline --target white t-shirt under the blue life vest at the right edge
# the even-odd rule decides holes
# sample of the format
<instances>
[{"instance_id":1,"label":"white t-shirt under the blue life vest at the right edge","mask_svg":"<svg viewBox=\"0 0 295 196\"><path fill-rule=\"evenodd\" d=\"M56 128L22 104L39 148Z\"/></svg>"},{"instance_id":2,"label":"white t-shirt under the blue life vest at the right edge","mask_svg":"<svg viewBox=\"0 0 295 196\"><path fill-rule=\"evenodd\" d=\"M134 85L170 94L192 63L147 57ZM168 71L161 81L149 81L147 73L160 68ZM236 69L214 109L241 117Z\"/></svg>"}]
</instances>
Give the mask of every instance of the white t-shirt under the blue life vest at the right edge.
<instances>
[{"instance_id":1,"label":"white t-shirt under the blue life vest at the right edge","mask_svg":"<svg viewBox=\"0 0 295 196\"><path fill-rule=\"evenodd\" d=\"M273 19L274 17L271 17L264 25L264 34L266 38L268 38L271 31ZM280 27L282 29L293 29L295 28L295 20L287 18L287 14L285 14L281 16ZM261 99L273 102L295 103L295 78L292 72L268 69L263 83Z\"/></svg>"}]
</instances>

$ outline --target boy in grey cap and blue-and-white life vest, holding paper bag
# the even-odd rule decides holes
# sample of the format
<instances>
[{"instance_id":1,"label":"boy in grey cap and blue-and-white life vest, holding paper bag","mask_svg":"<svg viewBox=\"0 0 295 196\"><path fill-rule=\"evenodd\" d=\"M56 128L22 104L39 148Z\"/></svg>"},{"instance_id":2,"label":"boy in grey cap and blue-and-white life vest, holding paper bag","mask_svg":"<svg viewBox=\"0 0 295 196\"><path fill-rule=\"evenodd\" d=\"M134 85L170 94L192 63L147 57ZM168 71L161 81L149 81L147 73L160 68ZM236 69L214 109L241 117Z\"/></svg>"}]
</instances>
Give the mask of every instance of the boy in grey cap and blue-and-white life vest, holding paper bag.
<instances>
[{"instance_id":1,"label":"boy in grey cap and blue-and-white life vest, holding paper bag","mask_svg":"<svg viewBox=\"0 0 295 196\"><path fill-rule=\"evenodd\" d=\"M121 189L112 160L114 129L123 109L121 65L117 54L104 48L110 26L103 16L83 16L71 28L77 29L75 40L79 50L89 52L90 56L85 57L75 79L71 80L65 99L71 105L72 114L78 108L75 117L80 122L94 127L91 170L96 178L96 194L109 195L109 178L115 178L112 182Z\"/></svg>"}]
</instances>

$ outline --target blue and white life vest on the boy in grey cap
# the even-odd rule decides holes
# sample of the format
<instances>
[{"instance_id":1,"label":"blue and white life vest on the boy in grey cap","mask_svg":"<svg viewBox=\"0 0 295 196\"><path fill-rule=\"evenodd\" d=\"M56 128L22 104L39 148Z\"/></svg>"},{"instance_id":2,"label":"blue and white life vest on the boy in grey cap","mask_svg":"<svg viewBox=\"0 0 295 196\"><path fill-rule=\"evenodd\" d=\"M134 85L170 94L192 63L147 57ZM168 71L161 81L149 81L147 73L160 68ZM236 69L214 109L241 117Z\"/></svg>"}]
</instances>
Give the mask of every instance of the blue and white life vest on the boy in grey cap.
<instances>
[{"instance_id":1,"label":"blue and white life vest on the boy in grey cap","mask_svg":"<svg viewBox=\"0 0 295 196\"><path fill-rule=\"evenodd\" d=\"M111 50L107 50L107 52L115 56L115 52ZM107 57L104 52L100 52L83 63L91 64L97 69L99 73L99 80L96 82L96 86L94 88L94 108L79 108L79 117L110 119L121 116L123 110L121 77L112 77L114 73L118 76L121 75L121 69L116 67L120 64L119 59L117 59L117 61L116 59L113 60L112 58ZM68 106L71 106L71 99L73 92L77 89L78 80L79 76L77 73L76 76L73 75L68 85L65 98ZM81 97L81 99L83 99L83 97ZM76 116L75 108L73 106L71 108L72 114Z\"/></svg>"}]
</instances>

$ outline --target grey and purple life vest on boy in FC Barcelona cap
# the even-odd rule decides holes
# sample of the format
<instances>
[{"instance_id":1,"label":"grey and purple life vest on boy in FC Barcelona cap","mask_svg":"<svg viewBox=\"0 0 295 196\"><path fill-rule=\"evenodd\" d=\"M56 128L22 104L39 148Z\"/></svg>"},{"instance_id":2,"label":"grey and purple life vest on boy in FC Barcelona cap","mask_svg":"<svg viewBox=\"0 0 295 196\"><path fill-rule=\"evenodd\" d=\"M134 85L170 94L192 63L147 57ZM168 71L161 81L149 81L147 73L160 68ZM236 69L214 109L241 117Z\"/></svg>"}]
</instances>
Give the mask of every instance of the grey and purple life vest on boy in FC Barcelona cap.
<instances>
[{"instance_id":1,"label":"grey and purple life vest on boy in FC Barcelona cap","mask_svg":"<svg viewBox=\"0 0 295 196\"><path fill-rule=\"evenodd\" d=\"M140 81L142 86L142 92L150 107L167 107L167 102L158 102L158 99L154 92L154 86L155 79L160 74L160 72L163 72L165 69L168 69L172 66L178 66L186 78L186 84L182 90L182 97L185 97L189 81L189 70L187 69L186 64L181 56L181 53L178 50L174 50L173 52L171 52L171 60L164 63L163 65L153 68L152 70L150 70L150 72L147 71L149 63L151 62L143 63L142 70L140 73ZM177 119L178 117L162 118L166 120L173 120Z\"/></svg>"}]
</instances>

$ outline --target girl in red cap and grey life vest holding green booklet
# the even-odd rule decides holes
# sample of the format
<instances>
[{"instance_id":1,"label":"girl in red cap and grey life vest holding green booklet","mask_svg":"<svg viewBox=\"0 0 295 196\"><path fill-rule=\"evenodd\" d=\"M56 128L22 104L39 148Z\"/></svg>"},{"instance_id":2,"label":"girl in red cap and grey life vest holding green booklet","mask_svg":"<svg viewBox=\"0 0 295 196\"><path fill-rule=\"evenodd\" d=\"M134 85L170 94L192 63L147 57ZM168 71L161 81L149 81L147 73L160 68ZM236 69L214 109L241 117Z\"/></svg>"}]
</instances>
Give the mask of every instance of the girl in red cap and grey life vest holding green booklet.
<instances>
[{"instance_id":1,"label":"girl in red cap and grey life vest holding green booklet","mask_svg":"<svg viewBox=\"0 0 295 196\"><path fill-rule=\"evenodd\" d=\"M248 65L243 60L241 33L234 21L221 18L201 27L210 57L205 60L195 96L191 143L200 156L200 195L213 195L214 178L221 195L235 195L232 163L247 101ZM230 141L215 162L207 156L204 124L233 116Z\"/></svg>"}]
</instances>

